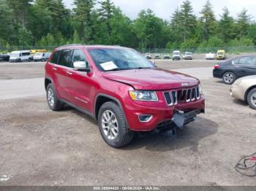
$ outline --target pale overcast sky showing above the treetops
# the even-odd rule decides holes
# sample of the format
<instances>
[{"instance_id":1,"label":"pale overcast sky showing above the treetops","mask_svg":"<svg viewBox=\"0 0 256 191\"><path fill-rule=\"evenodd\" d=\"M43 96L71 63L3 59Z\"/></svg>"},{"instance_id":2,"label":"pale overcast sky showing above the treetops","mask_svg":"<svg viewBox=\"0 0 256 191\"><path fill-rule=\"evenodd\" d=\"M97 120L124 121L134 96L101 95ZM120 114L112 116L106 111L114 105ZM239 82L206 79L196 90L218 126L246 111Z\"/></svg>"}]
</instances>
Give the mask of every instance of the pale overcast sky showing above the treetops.
<instances>
[{"instance_id":1,"label":"pale overcast sky showing above the treetops","mask_svg":"<svg viewBox=\"0 0 256 191\"><path fill-rule=\"evenodd\" d=\"M125 15L135 19L141 9L152 9L157 17L161 17L165 20L170 20L170 16L173 14L177 7L180 7L183 0L112 0L113 3L120 7ZM206 0L190 0L194 13L200 16L199 12L203 5L206 4ZM67 7L72 7L72 0L64 0ZM236 17L241 9L248 9L249 15L252 15L252 19L256 20L256 0L211 0L211 4L214 6L214 12L217 18L222 14L222 8L227 7L230 11L230 15Z\"/></svg>"}]
</instances>

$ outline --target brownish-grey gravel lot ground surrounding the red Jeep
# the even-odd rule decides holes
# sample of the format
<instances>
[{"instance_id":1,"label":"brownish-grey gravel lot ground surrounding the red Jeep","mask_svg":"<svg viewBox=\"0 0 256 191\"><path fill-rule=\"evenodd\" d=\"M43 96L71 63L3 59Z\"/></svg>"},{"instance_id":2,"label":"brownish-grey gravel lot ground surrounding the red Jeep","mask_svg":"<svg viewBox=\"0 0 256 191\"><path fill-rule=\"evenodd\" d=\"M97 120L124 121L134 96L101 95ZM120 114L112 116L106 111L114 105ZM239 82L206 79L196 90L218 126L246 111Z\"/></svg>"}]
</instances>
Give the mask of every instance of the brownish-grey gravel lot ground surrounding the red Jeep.
<instances>
[{"instance_id":1,"label":"brownish-grey gravel lot ground surrounding the red Jeep","mask_svg":"<svg viewBox=\"0 0 256 191\"><path fill-rule=\"evenodd\" d=\"M143 134L108 147L96 122L67 107L51 112L43 63L0 63L0 185L254 185L237 174L255 152L256 111L211 77L217 61L157 61L201 79L206 114L176 136Z\"/></svg>"}]
</instances>

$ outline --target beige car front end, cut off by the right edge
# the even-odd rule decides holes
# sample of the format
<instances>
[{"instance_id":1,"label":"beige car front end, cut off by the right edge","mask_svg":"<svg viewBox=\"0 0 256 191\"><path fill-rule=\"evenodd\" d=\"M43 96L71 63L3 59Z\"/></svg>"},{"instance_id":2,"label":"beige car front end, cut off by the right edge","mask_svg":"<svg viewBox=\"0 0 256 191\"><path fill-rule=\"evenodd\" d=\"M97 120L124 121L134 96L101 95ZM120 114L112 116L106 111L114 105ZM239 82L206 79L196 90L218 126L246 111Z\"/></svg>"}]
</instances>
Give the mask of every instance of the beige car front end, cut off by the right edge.
<instances>
[{"instance_id":1,"label":"beige car front end, cut off by the right edge","mask_svg":"<svg viewBox=\"0 0 256 191\"><path fill-rule=\"evenodd\" d=\"M237 79L230 88L230 95L256 109L256 75Z\"/></svg>"}]
</instances>

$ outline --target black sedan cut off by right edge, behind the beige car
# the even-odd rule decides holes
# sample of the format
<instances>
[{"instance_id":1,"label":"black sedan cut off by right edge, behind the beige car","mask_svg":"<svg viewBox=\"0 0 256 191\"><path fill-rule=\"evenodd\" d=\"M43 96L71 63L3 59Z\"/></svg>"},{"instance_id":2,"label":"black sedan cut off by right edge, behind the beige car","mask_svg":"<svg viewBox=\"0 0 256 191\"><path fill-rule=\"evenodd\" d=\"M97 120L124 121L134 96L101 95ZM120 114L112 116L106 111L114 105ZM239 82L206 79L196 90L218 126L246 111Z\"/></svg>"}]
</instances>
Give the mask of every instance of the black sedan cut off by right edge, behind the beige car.
<instances>
[{"instance_id":1,"label":"black sedan cut off by right edge, behind the beige car","mask_svg":"<svg viewBox=\"0 0 256 191\"><path fill-rule=\"evenodd\" d=\"M221 78L227 85L236 79L256 75L256 56L234 58L214 66L214 77Z\"/></svg>"}]
</instances>

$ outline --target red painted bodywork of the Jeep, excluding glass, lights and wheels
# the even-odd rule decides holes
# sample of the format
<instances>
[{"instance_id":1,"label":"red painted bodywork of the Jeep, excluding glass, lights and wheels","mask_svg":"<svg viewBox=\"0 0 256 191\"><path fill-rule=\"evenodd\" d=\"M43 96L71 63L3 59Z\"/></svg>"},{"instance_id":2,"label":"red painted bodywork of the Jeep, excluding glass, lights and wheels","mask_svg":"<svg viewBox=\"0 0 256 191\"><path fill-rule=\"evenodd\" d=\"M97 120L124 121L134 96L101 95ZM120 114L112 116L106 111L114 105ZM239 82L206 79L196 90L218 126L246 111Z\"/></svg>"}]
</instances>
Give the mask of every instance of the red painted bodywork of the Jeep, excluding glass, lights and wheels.
<instances>
[{"instance_id":1,"label":"red painted bodywork of the Jeep, excluding glass, lights and wheels","mask_svg":"<svg viewBox=\"0 0 256 191\"><path fill-rule=\"evenodd\" d=\"M97 95L110 95L118 100L124 110L129 128L132 130L148 131L156 128L159 122L170 120L173 110L189 111L205 109L203 95L197 101L167 106L163 90L174 90L195 87L200 81L186 74L162 69L140 69L127 71L100 71L89 55L88 50L96 48L123 48L104 46L69 46L59 47L56 50L80 49L86 55L91 72L75 71L73 69L50 63L45 65L45 77L53 81L57 95L60 99L71 102L75 106L85 109L95 116L95 103ZM52 54L53 55L53 54ZM53 70L56 68L56 70ZM70 76L67 71L72 72ZM182 87L186 83L188 87ZM133 101L129 90L155 90L159 101ZM152 114L150 122L139 122L138 114Z\"/></svg>"}]
</instances>

